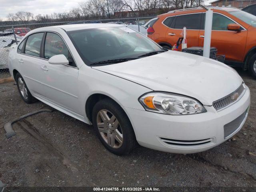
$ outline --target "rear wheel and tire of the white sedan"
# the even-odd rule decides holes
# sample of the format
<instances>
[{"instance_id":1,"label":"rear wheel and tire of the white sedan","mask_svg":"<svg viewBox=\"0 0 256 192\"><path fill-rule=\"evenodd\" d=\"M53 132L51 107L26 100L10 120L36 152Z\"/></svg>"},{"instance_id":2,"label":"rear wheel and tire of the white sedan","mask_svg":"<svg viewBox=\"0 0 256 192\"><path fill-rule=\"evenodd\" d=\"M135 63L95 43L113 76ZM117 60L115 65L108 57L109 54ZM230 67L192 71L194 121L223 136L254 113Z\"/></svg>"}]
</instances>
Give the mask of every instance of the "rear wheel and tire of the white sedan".
<instances>
[{"instance_id":1,"label":"rear wheel and tire of the white sedan","mask_svg":"<svg viewBox=\"0 0 256 192\"><path fill-rule=\"evenodd\" d=\"M18 91L20 93L21 98L24 100L24 102L26 103L33 103L36 101L36 98L34 98L30 91L28 90L28 87L23 79L23 77L20 75L20 73L16 74L15 77L16 83L17 83L17 87L18 87Z\"/></svg>"}]
</instances>

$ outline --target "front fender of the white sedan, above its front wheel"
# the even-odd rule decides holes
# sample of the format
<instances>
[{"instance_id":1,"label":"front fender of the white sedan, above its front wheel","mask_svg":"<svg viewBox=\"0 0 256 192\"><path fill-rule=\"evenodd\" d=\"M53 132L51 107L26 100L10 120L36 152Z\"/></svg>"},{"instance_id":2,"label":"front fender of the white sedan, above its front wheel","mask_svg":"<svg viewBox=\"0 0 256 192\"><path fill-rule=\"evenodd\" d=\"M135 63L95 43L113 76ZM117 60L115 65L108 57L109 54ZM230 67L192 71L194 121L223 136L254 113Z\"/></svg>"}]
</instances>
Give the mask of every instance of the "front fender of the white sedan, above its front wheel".
<instances>
[{"instance_id":1,"label":"front fender of the white sedan, above its front wheel","mask_svg":"<svg viewBox=\"0 0 256 192\"><path fill-rule=\"evenodd\" d=\"M83 87L79 90L79 98L83 103L81 110L84 116L86 116L86 101L92 94L104 94L116 101L126 111L125 108L144 110L138 102L138 98L142 94L152 91L140 84L88 66L80 68L78 82L78 87Z\"/></svg>"}]
</instances>

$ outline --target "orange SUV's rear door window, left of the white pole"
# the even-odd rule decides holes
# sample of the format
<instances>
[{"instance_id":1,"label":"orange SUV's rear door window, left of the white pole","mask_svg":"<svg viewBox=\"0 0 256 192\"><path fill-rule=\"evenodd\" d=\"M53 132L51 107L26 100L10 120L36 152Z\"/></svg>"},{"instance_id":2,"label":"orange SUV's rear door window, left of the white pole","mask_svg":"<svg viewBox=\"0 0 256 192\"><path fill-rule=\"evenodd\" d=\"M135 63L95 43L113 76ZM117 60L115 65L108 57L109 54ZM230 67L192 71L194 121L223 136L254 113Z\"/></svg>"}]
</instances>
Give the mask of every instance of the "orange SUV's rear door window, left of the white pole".
<instances>
[{"instance_id":1,"label":"orange SUV's rear door window, left of the white pole","mask_svg":"<svg viewBox=\"0 0 256 192\"><path fill-rule=\"evenodd\" d=\"M200 29L201 14L188 14L176 17L175 29Z\"/></svg>"}]
</instances>

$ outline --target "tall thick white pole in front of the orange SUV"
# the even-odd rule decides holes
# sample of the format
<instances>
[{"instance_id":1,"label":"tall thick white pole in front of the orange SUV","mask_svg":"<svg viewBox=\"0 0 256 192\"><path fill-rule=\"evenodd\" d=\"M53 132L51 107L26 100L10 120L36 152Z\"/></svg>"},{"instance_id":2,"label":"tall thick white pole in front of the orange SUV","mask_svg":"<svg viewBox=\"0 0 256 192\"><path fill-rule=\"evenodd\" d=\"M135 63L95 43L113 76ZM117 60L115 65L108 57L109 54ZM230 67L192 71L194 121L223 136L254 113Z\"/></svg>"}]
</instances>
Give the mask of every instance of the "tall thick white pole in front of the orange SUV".
<instances>
[{"instance_id":1,"label":"tall thick white pole in front of the orange SUV","mask_svg":"<svg viewBox=\"0 0 256 192\"><path fill-rule=\"evenodd\" d=\"M210 47L212 38L212 16L213 10L208 9L205 16L204 27L204 57L210 58Z\"/></svg>"}]
</instances>

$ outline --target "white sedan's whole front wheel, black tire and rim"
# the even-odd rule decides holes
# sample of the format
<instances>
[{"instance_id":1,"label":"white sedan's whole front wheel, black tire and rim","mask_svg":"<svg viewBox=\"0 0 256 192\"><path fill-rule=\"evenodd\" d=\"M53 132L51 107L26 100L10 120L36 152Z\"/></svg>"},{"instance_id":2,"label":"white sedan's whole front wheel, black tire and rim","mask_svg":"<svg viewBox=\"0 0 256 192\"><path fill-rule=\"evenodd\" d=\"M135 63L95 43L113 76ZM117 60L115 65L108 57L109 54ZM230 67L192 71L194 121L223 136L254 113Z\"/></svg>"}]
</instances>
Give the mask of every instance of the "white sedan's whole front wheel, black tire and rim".
<instances>
[{"instance_id":1,"label":"white sedan's whole front wheel, black tire and rim","mask_svg":"<svg viewBox=\"0 0 256 192\"><path fill-rule=\"evenodd\" d=\"M110 98L94 105L92 122L101 143L110 152L116 155L129 154L136 146L134 130L128 116Z\"/></svg>"}]
</instances>

